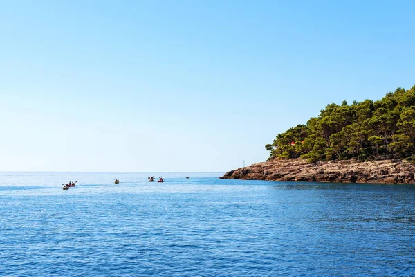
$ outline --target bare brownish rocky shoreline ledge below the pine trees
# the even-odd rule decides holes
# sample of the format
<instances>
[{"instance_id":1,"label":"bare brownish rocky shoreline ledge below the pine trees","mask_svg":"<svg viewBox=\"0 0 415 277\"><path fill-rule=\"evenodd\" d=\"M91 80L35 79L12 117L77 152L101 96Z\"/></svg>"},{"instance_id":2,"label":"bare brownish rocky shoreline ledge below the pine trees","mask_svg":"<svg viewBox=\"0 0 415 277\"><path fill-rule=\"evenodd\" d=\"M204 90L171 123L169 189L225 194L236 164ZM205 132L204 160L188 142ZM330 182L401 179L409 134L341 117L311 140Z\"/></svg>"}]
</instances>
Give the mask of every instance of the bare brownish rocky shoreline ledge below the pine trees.
<instances>
[{"instance_id":1,"label":"bare brownish rocky shoreline ledge below the pine trees","mask_svg":"<svg viewBox=\"0 0 415 277\"><path fill-rule=\"evenodd\" d=\"M415 184L415 163L403 160L320 161L270 159L226 172L222 179Z\"/></svg>"}]
</instances>

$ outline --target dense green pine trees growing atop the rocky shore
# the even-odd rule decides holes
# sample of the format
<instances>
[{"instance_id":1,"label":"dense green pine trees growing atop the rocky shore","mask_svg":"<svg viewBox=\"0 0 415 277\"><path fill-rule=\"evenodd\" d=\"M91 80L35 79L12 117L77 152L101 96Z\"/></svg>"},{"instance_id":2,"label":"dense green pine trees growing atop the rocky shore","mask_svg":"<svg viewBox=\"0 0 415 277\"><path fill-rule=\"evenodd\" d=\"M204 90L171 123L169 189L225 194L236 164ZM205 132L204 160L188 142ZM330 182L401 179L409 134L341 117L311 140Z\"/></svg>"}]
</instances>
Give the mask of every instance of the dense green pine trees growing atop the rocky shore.
<instances>
[{"instance_id":1,"label":"dense green pine trees growing atop the rocky shore","mask_svg":"<svg viewBox=\"0 0 415 277\"><path fill-rule=\"evenodd\" d=\"M278 134L270 157L308 162L382 157L415 160L415 86L398 87L382 100L330 104L306 125Z\"/></svg>"}]
</instances>

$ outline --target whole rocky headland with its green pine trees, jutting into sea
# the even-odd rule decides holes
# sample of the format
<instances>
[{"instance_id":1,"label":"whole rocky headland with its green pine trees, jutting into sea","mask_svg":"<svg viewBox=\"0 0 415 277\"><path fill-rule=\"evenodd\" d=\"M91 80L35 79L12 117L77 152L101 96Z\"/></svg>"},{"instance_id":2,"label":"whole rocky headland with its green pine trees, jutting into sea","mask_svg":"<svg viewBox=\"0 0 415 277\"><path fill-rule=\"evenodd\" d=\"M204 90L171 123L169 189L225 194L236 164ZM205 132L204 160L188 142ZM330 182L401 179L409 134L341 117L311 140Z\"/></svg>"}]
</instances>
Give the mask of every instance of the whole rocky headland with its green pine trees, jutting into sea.
<instances>
[{"instance_id":1,"label":"whole rocky headland with its green pine trees, jutting into sea","mask_svg":"<svg viewBox=\"0 0 415 277\"><path fill-rule=\"evenodd\" d=\"M330 104L267 144L268 161L221 178L415 184L415 86Z\"/></svg>"}]
</instances>

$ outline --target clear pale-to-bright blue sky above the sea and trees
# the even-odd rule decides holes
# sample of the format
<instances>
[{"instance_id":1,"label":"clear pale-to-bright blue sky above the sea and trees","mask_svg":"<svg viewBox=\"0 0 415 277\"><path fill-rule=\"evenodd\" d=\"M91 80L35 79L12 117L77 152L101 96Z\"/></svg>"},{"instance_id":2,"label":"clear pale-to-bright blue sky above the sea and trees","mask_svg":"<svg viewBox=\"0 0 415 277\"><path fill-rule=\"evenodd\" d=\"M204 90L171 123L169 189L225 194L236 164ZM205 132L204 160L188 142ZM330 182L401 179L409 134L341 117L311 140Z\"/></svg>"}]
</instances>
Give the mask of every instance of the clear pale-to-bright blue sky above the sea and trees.
<instances>
[{"instance_id":1,"label":"clear pale-to-bright blue sky above the sea and trees","mask_svg":"<svg viewBox=\"0 0 415 277\"><path fill-rule=\"evenodd\" d=\"M224 172L415 84L414 1L0 6L1 171Z\"/></svg>"}]
</instances>

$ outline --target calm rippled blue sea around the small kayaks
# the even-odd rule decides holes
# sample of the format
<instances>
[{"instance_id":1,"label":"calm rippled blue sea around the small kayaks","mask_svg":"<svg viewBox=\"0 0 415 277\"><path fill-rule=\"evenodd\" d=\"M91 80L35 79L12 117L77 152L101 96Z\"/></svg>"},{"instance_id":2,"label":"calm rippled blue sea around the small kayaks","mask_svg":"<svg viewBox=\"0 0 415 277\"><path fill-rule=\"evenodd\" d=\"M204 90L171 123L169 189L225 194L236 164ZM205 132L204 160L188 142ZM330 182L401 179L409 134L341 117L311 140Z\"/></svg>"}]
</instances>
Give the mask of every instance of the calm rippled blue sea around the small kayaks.
<instances>
[{"instance_id":1,"label":"calm rippled blue sea around the small kayaks","mask_svg":"<svg viewBox=\"0 0 415 277\"><path fill-rule=\"evenodd\" d=\"M415 186L219 176L0 172L0 276L415 276Z\"/></svg>"}]
</instances>

